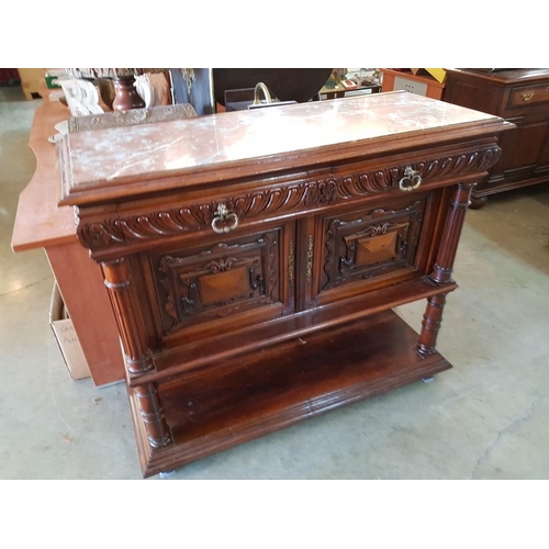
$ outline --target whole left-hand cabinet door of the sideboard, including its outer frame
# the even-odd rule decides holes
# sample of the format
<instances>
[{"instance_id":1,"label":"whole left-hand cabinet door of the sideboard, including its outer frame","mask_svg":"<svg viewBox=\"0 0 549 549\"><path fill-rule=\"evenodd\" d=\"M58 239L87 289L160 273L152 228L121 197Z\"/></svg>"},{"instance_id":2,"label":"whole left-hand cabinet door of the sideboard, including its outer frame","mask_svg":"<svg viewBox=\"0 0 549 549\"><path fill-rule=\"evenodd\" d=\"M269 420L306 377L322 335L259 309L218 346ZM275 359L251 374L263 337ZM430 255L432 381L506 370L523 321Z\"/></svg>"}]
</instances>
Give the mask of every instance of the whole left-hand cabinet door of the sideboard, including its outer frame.
<instances>
[{"instance_id":1,"label":"whole left-hand cabinet door of the sideboard, including its outer frame","mask_svg":"<svg viewBox=\"0 0 549 549\"><path fill-rule=\"evenodd\" d=\"M148 254L160 338L206 337L231 320L243 327L293 312L293 233L290 222Z\"/></svg>"}]
</instances>

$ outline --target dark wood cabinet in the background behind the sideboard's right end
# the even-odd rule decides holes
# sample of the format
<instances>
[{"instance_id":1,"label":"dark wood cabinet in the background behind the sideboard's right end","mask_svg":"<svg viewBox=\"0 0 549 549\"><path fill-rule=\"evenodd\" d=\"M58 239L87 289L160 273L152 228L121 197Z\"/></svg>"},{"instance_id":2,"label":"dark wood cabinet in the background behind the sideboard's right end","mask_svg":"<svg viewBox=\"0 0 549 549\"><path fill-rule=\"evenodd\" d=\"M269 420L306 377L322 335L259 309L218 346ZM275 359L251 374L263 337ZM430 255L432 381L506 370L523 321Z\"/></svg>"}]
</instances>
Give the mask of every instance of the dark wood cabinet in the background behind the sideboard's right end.
<instances>
[{"instance_id":1,"label":"dark wood cabinet in the background behind the sideboard's right end","mask_svg":"<svg viewBox=\"0 0 549 549\"><path fill-rule=\"evenodd\" d=\"M473 190L473 208L490 194L549 181L549 69L448 70L445 101L516 125L502 136L490 177Z\"/></svg>"}]
</instances>

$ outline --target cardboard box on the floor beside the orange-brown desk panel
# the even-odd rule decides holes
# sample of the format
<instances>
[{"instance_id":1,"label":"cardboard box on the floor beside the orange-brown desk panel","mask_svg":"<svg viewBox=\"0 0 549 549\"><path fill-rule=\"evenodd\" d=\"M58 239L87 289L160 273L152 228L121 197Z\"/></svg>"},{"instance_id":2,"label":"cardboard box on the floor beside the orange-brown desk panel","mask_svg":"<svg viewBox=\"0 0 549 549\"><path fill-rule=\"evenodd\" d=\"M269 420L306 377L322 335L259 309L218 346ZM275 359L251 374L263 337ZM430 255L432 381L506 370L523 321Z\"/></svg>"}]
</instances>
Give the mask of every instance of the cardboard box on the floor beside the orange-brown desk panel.
<instances>
[{"instance_id":1,"label":"cardboard box on the floor beside the orange-brown desk panel","mask_svg":"<svg viewBox=\"0 0 549 549\"><path fill-rule=\"evenodd\" d=\"M49 303L49 325L57 339L70 377L74 380L89 378L90 370L88 362L78 341L72 321L65 309L57 283L54 283L52 301Z\"/></svg>"}]
</instances>

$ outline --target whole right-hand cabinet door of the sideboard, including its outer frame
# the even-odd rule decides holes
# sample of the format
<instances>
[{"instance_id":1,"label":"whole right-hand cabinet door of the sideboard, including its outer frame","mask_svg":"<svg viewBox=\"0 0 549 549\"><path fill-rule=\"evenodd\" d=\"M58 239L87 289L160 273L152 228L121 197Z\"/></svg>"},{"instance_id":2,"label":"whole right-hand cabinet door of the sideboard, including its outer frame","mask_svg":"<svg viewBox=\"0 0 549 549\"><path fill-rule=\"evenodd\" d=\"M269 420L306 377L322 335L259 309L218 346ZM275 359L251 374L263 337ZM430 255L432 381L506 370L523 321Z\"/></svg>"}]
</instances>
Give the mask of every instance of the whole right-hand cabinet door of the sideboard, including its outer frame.
<instances>
[{"instance_id":1,"label":"whole right-hand cabinet door of the sideboard, including its outer frame","mask_svg":"<svg viewBox=\"0 0 549 549\"><path fill-rule=\"evenodd\" d=\"M341 211L321 220L321 272L316 302L391 285L425 274L426 238L433 195L416 195ZM430 223L430 222L428 222ZM424 249L425 251L425 249Z\"/></svg>"}]
</instances>

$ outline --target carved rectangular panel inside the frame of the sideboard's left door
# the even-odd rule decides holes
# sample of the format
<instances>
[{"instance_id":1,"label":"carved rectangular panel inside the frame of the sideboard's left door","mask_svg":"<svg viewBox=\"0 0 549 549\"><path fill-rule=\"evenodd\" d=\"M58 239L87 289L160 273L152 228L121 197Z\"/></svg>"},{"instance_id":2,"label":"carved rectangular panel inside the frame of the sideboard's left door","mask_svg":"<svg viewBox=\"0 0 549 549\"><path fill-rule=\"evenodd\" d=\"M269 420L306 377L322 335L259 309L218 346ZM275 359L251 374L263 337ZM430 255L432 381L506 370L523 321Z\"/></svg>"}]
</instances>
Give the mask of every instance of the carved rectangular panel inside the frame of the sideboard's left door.
<instances>
[{"instance_id":1,"label":"carved rectangular panel inside the frame of the sideboard's left door","mask_svg":"<svg viewBox=\"0 0 549 549\"><path fill-rule=\"evenodd\" d=\"M288 291L281 288L284 279L280 276L284 246L283 231L276 228L189 251L149 256L164 335L285 305Z\"/></svg>"}]
</instances>

